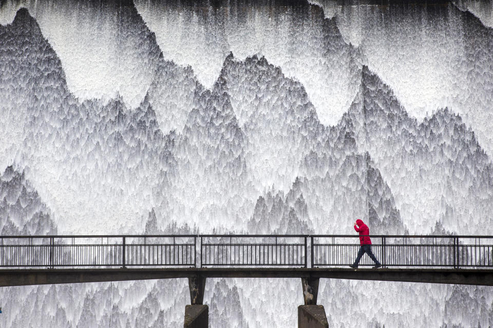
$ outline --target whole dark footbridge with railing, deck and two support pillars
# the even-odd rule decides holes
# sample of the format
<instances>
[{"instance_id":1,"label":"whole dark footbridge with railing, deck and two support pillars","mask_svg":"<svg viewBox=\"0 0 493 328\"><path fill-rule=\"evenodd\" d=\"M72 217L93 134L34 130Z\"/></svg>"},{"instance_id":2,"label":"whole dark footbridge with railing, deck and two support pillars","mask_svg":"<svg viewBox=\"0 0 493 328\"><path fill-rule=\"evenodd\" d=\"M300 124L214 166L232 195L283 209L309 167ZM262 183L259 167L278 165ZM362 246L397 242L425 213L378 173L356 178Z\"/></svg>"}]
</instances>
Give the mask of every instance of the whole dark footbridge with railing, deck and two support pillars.
<instances>
[{"instance_id":1,"label":"whole dark footbridge with railing, deck and two support pillars","mask_svg":"<svg viewBox=\"0 0 493 328\"><path fill-rule=\"evenodd\" d=\"M493 236L371 235L382 268L355 235L0 236L0 286L188 278L185 327L207 327L207 278L301 278L298 327L325 327L320 278L493 285Z\"/></svg>"}]
</instances>

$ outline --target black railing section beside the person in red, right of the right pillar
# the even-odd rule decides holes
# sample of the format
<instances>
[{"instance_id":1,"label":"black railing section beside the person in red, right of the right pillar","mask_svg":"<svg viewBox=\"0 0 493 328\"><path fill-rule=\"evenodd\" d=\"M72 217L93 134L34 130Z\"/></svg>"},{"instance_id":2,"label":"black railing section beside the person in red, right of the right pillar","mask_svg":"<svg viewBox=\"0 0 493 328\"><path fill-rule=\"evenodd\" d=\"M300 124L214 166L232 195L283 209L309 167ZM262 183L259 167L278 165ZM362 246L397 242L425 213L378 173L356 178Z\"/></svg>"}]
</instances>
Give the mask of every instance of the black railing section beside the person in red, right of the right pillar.
<instances>
[{"instance_id":1,"label":"black railing section beside the person in red, right of the right pillar","mask_svg":"<svg viewBox=\"0 0 493 328\"><path fill-rule=\"evenodd\" d=\"M374 235L372 252L385 267L493 267L493 236ZM312 267L352 264L354 235L313 235ZM374 265L364 255L359 265Z\"/></svg>"}]
</instances>

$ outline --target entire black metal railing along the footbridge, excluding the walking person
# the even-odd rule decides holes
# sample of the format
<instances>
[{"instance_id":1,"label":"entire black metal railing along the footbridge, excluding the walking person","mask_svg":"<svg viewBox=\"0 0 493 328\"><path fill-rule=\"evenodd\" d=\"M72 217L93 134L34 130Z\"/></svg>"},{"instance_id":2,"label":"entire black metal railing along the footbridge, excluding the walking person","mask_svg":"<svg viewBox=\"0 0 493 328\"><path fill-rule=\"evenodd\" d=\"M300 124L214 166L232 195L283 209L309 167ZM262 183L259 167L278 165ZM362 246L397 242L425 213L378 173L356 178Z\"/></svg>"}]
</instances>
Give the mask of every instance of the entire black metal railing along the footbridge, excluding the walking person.
<instances>
[{"instance_id":1,"label":"entire black metal railing along the footbridge, excluding the walking person","mask_svg":"<svg viewBox=\"0 0 493 328\"><path fill-rule=\"evenodd\" d=\"M493 236L370 237L384 268L493 267ZM359 246L357 235L0 236L0 267L345 267Z\"/></svg>"}]
</instances>

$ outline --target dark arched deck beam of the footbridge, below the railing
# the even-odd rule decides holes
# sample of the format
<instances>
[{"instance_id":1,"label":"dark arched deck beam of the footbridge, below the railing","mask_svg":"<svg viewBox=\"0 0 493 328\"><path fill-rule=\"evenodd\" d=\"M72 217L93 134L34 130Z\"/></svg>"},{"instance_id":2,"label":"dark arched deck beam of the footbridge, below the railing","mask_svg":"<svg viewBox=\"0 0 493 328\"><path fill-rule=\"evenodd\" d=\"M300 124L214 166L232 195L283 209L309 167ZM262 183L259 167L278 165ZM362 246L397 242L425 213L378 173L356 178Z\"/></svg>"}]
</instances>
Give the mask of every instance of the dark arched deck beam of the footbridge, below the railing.
<instances>
[{"instance_id":1,"label":"dark arched deck beam of the footbridge, below the railing","mask_svg":"<svg viewBox=\"0 0 493 328\"><path fill-rule=\"evenodd\" d=\"M345 269L345 268L126 268L0 270L0 286L147 279L189 278L333 278L493 285L493 270L478 269Z\"/></svg>"}]
</instances>

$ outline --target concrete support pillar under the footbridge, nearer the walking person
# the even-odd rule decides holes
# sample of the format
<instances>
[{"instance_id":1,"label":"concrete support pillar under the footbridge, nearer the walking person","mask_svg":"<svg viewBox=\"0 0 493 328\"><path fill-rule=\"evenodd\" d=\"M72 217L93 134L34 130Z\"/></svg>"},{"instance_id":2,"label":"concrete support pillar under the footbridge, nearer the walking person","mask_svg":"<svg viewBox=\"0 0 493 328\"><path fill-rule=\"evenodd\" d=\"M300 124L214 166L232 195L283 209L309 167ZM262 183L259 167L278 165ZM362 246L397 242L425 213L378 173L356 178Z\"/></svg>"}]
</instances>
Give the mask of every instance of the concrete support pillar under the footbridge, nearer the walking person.
<instances>
[{"instance_id":1,"label":"concrete support pillar under the footbridge, nearer the walking person","mask_svg":"<svg viewBox=\"0 0 493 328\"><path fill-rule=\"evenodd\" d=\"M298 306L298 328L327 328L324 306L316 305L319 278L301 278L305 305Z\"/></svg>"}]
</instances>

